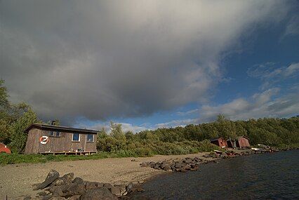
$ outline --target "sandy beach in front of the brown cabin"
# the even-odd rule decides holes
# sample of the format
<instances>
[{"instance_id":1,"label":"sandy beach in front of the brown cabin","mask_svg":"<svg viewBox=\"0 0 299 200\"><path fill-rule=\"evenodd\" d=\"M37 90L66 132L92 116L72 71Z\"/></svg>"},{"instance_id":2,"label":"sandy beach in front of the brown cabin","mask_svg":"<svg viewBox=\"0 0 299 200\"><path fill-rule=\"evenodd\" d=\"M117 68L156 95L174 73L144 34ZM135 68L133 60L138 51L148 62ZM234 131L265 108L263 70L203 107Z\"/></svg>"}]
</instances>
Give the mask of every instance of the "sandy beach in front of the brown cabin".
<instances>
[{"instance_id":1,"label":"sandy beach in front of the brown cabin","mask_svg":"<svg viewBox=\"0 0 299 200\"><path fill-rule=\"evenodd\" d=\"M46 164L13 164L0 166L0 199L15 199L26 194L34 195L32 185L43 182L51 169L64 175L73 172L84 180L126 184L128 182L144 182L154 175L166 173L153 168L140 167L142 161L163 161L167 159L202 157L206 153L152 156L144 158L114 158L86 161L61 161ZM136 161L131 161L135 159Z\"/></svg>"}]
</instances>

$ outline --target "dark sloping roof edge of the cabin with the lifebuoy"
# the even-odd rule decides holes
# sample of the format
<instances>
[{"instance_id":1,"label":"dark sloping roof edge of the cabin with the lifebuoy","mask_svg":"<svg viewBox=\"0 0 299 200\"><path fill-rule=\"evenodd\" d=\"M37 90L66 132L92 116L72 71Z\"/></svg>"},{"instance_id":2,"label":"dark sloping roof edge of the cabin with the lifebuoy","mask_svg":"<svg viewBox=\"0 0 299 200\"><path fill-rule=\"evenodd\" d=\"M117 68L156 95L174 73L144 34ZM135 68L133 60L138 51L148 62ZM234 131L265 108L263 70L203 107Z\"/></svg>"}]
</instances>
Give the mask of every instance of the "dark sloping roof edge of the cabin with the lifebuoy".
<instances>
[{"instance_id":1,"label":"dark sloping roof edge of the cabin with the lifebuoy","mask_svg":"<svg viewBox=\"0 0 299 200\"><path fill-rule=\"evenodd\" d=\"M28 133L31 128L40 128L44 130L53 130L53 131L65 131L65 132L80 132L80 133L92 133L97 134L98 131L91 130L91 129L85 129L85 128L72 128L67 126L56 126L56 125L50 125L50 124L39 124L39 123L33 123L28 128L25 129L25 133Z\"/></svg>"}]
</instances>

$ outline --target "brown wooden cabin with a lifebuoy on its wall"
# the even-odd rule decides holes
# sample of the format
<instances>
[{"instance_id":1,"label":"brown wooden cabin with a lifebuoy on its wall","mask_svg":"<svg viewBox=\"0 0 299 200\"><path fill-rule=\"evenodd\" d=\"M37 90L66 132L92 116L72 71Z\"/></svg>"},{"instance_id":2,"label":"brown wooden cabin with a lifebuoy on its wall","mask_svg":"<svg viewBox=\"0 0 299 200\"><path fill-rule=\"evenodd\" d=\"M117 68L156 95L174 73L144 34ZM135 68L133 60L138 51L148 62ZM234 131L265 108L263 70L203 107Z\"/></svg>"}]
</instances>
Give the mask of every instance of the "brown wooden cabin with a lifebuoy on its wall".
<instances>
[{"instance_id":1,"label":"brown wooden cabin with a lifebuoy on its wall","mask_svg":"<svg viewBox=\"0 0 299 200\"><path fill-rule=\"evenodd\" d=\"M27 133L25 154L93 154L96 153L97 131L31 124Z\"/></svg>"}]
</instances>

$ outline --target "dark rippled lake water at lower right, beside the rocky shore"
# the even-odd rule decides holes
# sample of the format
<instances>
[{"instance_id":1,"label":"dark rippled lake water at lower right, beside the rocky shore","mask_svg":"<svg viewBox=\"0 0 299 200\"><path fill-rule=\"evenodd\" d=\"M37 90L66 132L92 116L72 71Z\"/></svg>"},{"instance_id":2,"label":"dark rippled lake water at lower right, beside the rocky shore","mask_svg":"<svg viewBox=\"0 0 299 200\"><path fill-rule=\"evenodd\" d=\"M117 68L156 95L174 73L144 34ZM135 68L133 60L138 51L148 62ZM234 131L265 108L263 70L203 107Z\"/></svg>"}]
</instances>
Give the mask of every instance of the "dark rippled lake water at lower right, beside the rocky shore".
<instances>
[{"instance_id":1,"label":"dark rippled lake water at lower right, beside the rocky shore","mask_svg":"<svg viewBox=\"0 0 299 200\"><path fill-rule=\"evenodd\" d=\"M299 199L299 150L254 154L171 173L135 194L150 199Z\"/></svg>"}]
</instances>

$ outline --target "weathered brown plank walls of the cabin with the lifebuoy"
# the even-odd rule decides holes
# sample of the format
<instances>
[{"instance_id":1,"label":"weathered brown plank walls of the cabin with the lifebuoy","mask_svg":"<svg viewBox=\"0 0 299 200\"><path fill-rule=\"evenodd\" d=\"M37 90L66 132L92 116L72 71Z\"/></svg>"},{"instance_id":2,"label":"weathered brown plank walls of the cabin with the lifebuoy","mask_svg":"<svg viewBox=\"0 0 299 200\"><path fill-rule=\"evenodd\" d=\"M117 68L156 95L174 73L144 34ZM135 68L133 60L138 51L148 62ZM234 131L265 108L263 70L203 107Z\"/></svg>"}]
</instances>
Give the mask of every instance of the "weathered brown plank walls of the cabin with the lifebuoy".
<instances>
[{"instance_id":1,"label":"weathered brown plank walls of the cabin with the lifebuoy","mask_svg":"<svg viewBox=\"0 0 299 200\"><path fill-rule=\"evenodd\" d=\"M60 132L60 137L49 136L49 131L32 128L27 136L25 154L38 154L41 152L74 152L83 149L85 152L96 151L96 134L93 134L93 142L87 142L87 134L80 133L80 142L72 142L72 133ZM43 135L49 137L49 142L42 145L39 138Z\"/></svg>"}]
</instances>

